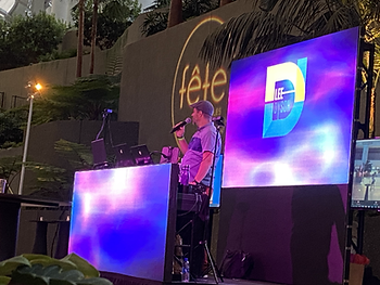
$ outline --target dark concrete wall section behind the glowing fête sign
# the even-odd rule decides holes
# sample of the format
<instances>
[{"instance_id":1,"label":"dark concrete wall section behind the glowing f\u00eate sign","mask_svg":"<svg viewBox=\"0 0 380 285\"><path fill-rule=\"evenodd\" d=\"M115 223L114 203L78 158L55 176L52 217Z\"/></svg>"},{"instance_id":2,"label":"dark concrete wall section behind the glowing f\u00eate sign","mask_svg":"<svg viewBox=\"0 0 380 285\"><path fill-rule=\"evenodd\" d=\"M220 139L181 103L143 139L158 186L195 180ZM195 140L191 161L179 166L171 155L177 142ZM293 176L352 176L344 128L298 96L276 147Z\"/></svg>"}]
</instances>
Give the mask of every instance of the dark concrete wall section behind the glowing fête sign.
<instances>
[{"instance_id":1,"label":"dark concrete wall section behind the glowing f\u00eate sign","mask_svg":"<svg viewBox=\"0 0 380 285\"><path fill-rule=\"evenodd\" d=\"M213 98L211 85L220 68L208 68L198 55L206 36L220 23L250 10L251 2L237 1L125 47L118 118L140 122L140 143L154 150L176 145L169 130L175 121L190 116L189 101L197 98L211 100L216 114L226 115L228 66L220 67L226 82L214 87L217 96ZM180 92L190 80L210 86L185 95L180 105ZM194 130L187 128L189 133Z\"/></svg>"}]
</instances>

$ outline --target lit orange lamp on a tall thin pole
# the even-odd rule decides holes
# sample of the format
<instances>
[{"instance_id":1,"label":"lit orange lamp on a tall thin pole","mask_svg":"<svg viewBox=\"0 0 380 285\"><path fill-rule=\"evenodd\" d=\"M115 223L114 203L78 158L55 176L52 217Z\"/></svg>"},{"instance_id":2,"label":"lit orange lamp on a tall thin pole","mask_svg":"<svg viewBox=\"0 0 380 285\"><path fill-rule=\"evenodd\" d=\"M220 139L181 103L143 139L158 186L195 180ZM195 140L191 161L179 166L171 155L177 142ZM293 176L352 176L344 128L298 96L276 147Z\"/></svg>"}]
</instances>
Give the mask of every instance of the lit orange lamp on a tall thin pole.
<instances>
[{"instance_id":1,"label":"lit orange lamp on a tall thin pole","mask_svg":"<svg viewBox=\"0 0 380 285\"><path fill-rule=\"evenodd\" d=\"M40 83L33 85L33 82L29 81L25 88L29 89L28 91L29 113L28 113L28 121L26 125L26 133L25 133L25 140L24 140L24 154L23 154L23 164L21 166L18 195L23 194L24 178L25 178L25 163L26 163L26 156L28 151L30 125L31 125L33 100L38 94L38 92L42 89L42 86Z\"/></svg>"}]
</instances>

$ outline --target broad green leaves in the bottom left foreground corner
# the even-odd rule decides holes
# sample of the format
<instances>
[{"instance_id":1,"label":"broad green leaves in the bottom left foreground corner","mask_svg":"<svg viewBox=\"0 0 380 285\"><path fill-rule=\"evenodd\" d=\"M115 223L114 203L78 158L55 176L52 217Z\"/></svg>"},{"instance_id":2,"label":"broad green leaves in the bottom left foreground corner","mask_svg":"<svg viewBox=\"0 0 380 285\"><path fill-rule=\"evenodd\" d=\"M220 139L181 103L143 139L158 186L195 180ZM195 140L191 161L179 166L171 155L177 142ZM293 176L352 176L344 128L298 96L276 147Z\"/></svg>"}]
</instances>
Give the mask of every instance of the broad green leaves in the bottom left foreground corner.
<instances>
[{"instance_id":1,"label":"broad green leaves in the bottom left foreground corner","mask_svg":"<svg viewBox=\"0 0 380 285\"><path fill-rule=\"evenodd\" d=\"M0 284L112 285L99 276L94 267L75 254L60 260L43 255L22 255L0 262Z\"/></svg>"}]
</instances>

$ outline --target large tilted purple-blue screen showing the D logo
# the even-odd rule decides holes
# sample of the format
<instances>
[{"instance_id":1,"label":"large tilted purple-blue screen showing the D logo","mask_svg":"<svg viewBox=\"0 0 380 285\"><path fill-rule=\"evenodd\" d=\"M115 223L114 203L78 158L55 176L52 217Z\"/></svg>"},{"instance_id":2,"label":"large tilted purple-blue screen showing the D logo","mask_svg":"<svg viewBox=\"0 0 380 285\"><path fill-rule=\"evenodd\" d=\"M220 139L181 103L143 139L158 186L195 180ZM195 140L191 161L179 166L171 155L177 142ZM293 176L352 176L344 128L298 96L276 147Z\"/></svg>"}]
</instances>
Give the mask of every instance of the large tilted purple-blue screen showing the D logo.
<instances>
[{"instance_id":1,"label":"large tilted purple-blue screen showing the D logo","mask_svg":"<svg viewBox=\"0 0 380 285\"><path fill-rule=\"evenodd\" d=\"M349 182L359 29L232 63L224 187Z\"/></svg>"}]
</instances>

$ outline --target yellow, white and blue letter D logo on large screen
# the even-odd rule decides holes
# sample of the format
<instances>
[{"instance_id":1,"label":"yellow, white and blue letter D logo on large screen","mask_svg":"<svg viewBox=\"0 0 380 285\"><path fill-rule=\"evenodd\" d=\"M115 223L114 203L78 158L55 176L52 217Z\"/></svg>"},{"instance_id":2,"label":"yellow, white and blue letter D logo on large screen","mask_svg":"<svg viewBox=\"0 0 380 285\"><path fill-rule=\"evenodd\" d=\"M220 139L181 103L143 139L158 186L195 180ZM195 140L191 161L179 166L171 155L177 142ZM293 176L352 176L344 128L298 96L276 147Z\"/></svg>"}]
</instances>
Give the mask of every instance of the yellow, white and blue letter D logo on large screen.
<instances>
[{"instance_id":1,"label":"yellow, white and blue letter D logo on large screen","mask_svg":"<svg viewBox=\"0 0 380 285\"><path fill-rule=\"evenodd\" d=\"M267 68L263 138L287 135L300 119L305 101L307 57Z\"/></svg>"}]
</instances>

